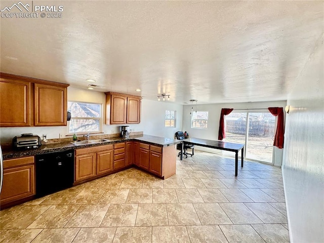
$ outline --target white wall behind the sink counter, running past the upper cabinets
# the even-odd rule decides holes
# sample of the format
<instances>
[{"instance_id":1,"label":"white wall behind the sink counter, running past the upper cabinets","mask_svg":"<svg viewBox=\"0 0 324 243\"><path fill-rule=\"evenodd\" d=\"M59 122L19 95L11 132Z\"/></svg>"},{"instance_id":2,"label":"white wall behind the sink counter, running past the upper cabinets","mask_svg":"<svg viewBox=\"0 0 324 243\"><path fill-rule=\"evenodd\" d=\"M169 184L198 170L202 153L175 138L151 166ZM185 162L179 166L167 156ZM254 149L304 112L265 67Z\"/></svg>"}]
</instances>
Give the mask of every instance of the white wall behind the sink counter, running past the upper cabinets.
<instances>
[{"instance_id":1,"label":"white wall behind the sink counter, running past the upper cabinets","mask_svg":"<svg viewBox=\"0 0 324 243\"><path fill-rule=\"evenodd\" d=\"M83 101L101 103L103 106L103 117L105 117L105 94L103 92L90 91L68 87L67 98L71 101ZM177 111L177 123L175 128L165 127L165 111ZM104 123L103 119L103 123ZM143 131L144 134L164 136L173 138L174 133L181 130L182 125L182 105L166 101L152 101L142 99L142 120L140 124L130 124L134 131ZM102 131L106 134L119 133L120 125L103 124ZM66 126L47 127L0 127L0 143L11 143L14 136L22 133L33 133L42 137L47 134L48 138L59 138L67 134Z\"/></svg>"}]
</instances>

